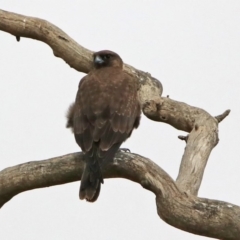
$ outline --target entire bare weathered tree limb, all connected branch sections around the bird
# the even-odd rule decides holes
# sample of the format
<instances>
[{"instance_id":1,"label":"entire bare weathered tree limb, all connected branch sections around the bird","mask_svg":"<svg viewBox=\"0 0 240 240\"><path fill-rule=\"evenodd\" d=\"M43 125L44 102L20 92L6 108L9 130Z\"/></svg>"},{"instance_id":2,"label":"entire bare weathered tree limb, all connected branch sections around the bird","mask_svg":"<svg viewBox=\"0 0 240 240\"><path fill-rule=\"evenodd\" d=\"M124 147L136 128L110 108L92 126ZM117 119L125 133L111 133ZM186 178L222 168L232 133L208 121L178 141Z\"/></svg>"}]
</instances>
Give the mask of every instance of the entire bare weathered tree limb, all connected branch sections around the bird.
<instances>
[{"instance_id":1,"label":"entire bare weathered tree limb, all connected branch sections around the bird","mask_svg":"<svg viewBox=\"0 0 240 240\"><path fill-rule=\"evenodd\" d=\"M48 44L55 56L81 72L91 69L92 51L83 48L53 24L38 18L0 10L0 30ZM176 182L151 160L118 153L102 166L104 178L122 177L140 183L156 195L159 216L179 229L220 239L239 239L240 207L217 200L197 198L206 163L218 143L218 123L228 114L212 117L203 109L161 98L162 85L150 74L127 64L124 69L139 82L143 113L154 121L189 133ZM10 167L0 172L0 206L15 195L47 186L77 181L83 155L74 153L45 161Z\"/></svg>"}]
</instances>

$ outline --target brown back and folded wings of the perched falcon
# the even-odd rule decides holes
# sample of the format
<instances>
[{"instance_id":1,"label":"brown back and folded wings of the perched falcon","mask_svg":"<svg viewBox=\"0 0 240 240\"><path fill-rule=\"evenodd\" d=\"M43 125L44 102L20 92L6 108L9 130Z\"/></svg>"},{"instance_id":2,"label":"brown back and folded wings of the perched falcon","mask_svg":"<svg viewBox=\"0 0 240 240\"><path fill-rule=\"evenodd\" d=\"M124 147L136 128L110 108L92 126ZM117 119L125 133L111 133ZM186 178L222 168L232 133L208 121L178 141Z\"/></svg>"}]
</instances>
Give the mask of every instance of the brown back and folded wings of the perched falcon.
<instances>
[{"instance_id":1,"label":"brown back and folded wings of the perched falcon","mask_svg":"<svg viewBox=\"0 0 240 240\"><path fill-rule=\"evenodd\" d=\"M76 97L74 133L84 152L97 143L108 151L121 145L140 120L134 79L118 69L104 69L85 76Z\"/></svg>"}]
</instances>

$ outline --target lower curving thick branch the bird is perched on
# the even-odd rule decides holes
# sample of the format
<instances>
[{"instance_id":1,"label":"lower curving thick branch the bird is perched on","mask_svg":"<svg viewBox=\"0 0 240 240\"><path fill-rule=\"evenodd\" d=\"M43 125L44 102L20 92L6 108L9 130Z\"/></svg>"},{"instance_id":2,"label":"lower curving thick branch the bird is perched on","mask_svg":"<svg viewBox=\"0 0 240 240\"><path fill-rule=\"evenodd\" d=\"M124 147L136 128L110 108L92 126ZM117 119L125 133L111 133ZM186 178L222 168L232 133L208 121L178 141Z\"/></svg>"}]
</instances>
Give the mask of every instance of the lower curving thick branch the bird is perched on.
<instances>
[{"instance_id":1,"label":"lower curving thick branch the bird is perched on","mask_svg":"<svg viewBox=\"0 0 240 240\"><path fill-rule=\"evenodd\" d=\"M81 153L6 168L0 172L0 205L23 191L77 181L82 170ZM149 159L118 153L102 172L104 178L127 178L152 191L159 216L174 227L218 239L239 237L240 207L182 193L171 177Z\"/></svg>"}]
</instances>

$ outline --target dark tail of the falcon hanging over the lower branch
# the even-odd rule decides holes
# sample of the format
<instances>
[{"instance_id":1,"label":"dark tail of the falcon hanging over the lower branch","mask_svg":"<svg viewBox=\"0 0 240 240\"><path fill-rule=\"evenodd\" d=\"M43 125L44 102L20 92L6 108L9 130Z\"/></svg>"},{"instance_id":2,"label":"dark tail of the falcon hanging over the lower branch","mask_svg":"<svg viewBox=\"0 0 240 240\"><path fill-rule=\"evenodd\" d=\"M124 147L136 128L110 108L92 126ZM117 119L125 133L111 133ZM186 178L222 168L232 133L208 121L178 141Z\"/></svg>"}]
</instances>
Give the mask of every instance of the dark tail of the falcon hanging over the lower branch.
<instances>
[{"instance_id":1,"label":"dark tail of the falcon hanging over the lower branch","mask_svg":"<svg viewBox=\"0 0 240 240\"><path fill-rule=\"evenodd\" d=\"M100 193L101 183L103 183L102 173L97 158L90 157L86 160L79 198L86 199L88 202L95 202Z\"/></svg>"}]
</instances>

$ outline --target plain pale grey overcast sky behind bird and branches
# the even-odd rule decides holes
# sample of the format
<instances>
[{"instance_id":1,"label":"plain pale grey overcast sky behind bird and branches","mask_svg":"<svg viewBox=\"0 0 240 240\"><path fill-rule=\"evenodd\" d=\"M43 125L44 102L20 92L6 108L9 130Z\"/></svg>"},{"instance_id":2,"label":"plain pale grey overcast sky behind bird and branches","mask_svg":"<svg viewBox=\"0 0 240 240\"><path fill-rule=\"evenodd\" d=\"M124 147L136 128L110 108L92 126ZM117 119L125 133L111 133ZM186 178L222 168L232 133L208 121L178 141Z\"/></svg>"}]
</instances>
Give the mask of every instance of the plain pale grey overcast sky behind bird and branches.
<instances>
[{"instance_id":1,"label":"plain pale grey overcast sky behind bird and branches","mask_svg":"<svg viewBox=\"0 0 240 240\"><path fill-rule=\"evenodd\" d=\"M212 115L219 126L200 197L240 205L240 1L7 0L0 8L46 19L93 51L110 49L151 73L163 95ZM0 32L0 169L79 151L65 113L84 74L44 43ZM123 147L174 179L184 134L144 116ZM78 199L79 182L33 190L0 210L1 240L198 240L157 215L155 196L124 179L105 180L98 201Z\"/></svg>"}]
</instances>

